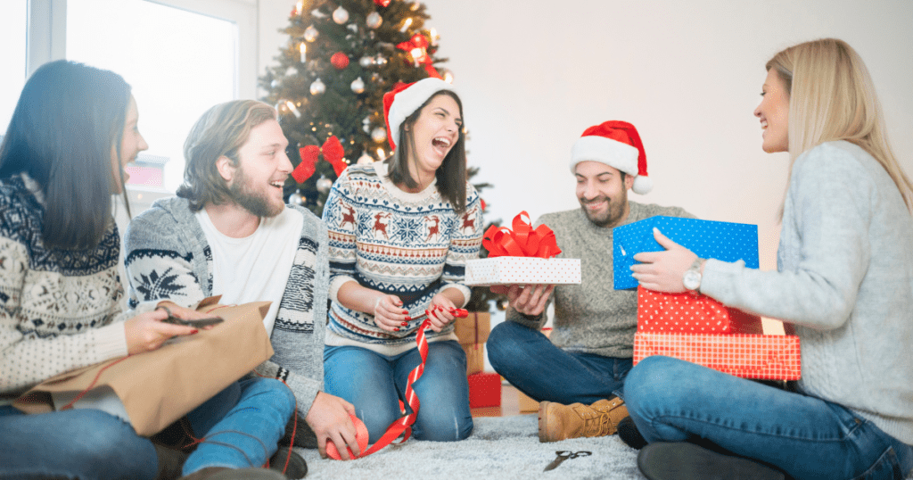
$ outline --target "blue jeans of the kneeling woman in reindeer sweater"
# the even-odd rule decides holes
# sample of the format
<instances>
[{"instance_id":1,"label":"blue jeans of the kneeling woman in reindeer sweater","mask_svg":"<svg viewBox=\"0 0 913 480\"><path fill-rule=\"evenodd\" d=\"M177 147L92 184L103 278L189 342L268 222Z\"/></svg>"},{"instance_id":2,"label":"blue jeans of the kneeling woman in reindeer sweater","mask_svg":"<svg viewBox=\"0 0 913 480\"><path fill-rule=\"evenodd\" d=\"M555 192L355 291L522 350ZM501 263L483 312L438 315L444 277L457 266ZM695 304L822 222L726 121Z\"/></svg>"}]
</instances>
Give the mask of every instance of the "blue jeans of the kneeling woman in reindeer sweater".
<instances>
[{"instance_id":1,"label":"blue jeans of the kneeling woman in reindeer sweater","mask_svg":"<svg viewBox=\"0 0 913 480\"><path fill-rule=\"evenodd\" d=\"M324 389L352 402L375 443L400 418L399 400L409 373L421 361L418 348L387 357L362 347L324 347ZM412 388L419 400L415 439L453 442L472 433L466 353L456 341L428 343L425 373ZM405 408L411 411L408 404Z\"/></svg>"}]
</instances>

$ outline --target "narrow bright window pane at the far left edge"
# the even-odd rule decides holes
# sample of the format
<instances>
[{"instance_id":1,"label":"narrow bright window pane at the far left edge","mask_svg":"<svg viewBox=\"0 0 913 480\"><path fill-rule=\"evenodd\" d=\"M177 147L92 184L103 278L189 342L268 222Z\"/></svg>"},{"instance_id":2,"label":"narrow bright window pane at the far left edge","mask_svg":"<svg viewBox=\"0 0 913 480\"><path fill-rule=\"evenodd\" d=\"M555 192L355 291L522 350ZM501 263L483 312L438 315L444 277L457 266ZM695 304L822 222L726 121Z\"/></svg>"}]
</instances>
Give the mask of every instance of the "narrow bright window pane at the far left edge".
<instances>
[{"instance_id":1,"label":"narrow bright window pane at the far left edge","mask_svg":"<svg viewBox=\"0 0 913 480\"><path fill-rule=\"evenodd\" d=\"M16 109L19 92L26 82L26 2L19 0L3 6L0 31L4 46L0 48L0 137L6 133L9 119Z\"/></svg>"}]
</instances>

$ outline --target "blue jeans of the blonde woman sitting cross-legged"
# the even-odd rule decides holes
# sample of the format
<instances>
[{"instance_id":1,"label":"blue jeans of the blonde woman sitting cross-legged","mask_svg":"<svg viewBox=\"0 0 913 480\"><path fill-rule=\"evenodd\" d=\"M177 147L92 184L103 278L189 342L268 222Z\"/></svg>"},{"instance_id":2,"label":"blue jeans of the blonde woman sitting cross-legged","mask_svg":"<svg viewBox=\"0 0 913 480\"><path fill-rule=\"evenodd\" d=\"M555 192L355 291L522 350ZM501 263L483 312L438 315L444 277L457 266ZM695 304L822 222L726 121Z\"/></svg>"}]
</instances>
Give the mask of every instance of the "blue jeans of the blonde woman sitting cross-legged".
<instances>
[{"instance_id":1,"label":"blue jeans of the blonde woman sitting cross-legged","mask_svg":"<svg viewBox=\"0 0 913 480\"><path fill-rule=\"evenodd\" d=\"M796 480L901 480L913 469L913 447L840 405L676 358L646 357L624 392L647 442L711 443Z\"/></svg>"}]
</instances>

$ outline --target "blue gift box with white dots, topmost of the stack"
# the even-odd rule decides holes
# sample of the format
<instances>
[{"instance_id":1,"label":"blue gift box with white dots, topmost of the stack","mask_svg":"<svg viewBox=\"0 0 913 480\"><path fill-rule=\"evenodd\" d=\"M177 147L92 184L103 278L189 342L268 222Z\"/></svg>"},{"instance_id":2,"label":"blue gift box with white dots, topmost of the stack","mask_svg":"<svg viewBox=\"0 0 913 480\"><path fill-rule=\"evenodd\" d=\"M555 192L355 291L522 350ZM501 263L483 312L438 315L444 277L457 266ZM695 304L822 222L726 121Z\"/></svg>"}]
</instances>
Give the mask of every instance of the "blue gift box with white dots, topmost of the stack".
<instances>
[{"instance_id":1,"label":"blue gift box with white dots, topmost of the stack","mask_svg":"<svg viewBox=\"0 0 913 480\"><path fill-rule=\"evenodd\" d=\"M670 240L695 252L702 259L745 261L758 268L758 226L727 221L651 217L615 227L612 232L612 263L615 290L637 288L631 276L634 256L641 251L663 251L653 238L653 228Z\"/></svg>"}]
</instances>

